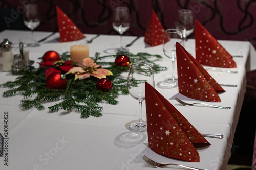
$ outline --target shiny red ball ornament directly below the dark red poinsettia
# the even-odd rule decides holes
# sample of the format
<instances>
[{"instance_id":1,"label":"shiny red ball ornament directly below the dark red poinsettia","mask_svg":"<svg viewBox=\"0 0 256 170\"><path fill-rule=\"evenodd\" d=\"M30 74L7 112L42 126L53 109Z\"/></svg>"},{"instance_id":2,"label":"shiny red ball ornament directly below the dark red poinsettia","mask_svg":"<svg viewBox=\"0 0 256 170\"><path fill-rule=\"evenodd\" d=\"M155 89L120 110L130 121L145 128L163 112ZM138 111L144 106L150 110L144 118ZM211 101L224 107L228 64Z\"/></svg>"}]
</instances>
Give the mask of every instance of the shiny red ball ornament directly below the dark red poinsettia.
<instances>
[{"instance_id":1,"label":"shiny red ball ornament directly below the dark red poinsettia","mask_svg":"<svg viewBox=\"0 0 256 170\"><path fill-rule=\"evenodd\" d=\"M46 78L46 87L49 89L66 89L67 79L60 73L52 73Z\"/></svg>"}]
</instances>

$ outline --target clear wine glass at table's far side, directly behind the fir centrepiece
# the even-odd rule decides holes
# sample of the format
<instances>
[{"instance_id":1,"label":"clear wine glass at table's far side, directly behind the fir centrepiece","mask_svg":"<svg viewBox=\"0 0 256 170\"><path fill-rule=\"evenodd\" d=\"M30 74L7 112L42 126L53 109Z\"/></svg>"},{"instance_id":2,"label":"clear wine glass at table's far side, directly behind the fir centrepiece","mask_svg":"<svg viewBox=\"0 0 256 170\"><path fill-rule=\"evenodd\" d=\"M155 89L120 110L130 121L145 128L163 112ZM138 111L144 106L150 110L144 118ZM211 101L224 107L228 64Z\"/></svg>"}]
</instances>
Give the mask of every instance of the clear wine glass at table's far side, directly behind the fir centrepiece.
<instances>
[{"instance_id":1,"label":"clear wine glass at table's far side, directly behind the fir centrepiece","mask_svg":"<svg viewBox=\"0 0 256 170\"><path fill-rule=\"evenodd\" d=\"M121 47L117 50L123 52L129 51L127 48L124 48L122 46L122 35L125 31L127 31L130 28L130 14L127 7L117 7L114 9L112 26L114 30L121 35Z\"/></svg>"}]
</instances>

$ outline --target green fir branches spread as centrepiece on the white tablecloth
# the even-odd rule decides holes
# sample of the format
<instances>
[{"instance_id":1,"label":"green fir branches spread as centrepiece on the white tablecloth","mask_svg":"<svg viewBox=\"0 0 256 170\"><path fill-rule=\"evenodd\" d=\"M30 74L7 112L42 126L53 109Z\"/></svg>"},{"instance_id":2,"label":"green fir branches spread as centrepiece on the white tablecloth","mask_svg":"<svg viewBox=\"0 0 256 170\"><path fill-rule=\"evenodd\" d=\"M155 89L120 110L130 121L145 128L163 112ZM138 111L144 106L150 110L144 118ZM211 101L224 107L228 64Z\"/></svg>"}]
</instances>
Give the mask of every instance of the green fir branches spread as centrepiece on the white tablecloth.
<instances>
[{"instance_id":1,"label":"green fir branches spread as centrepiece on the white tablecloth","mask_svg":"<svg viewBox=\"0 0 256 170\"><path fill-rule=\"evenodd\" d=\"M88 118L89 116L99 117L103 109L98 103L106 102L111 105L118 104L115 100L118 95L129 94L127 90L127 79L120 77L122 71L129 71L129 67L116 66L114 62L105 62L106 58L113 58L117 55L126 55L130 58L130 63L146 62L151 63L154 73L164 71L167 68L161 67L154 63L154 61L161 60L160 55L151 55L148 53L132 54L129 52L119 52L115 55L99 56L95 54L94 62L102 67L110 70L113 76L108 76L112 82L112 90L102 92L96 89L97 78L91 76L83 80L74 81L74 75L66 75L67 88L62 89L48 89L46 87L45 70L41 68L32 68L24 71L22 76L16 78L15 81L8 81L1 84L0 87L8 87L9 90L3 93L3 97L10 97L21 94L24 100L21 101L20 106L27 110L35 107L38 110L44 110L43 106L46 102L57 102L55 105L48 107L49 112L57 112L61 109L71 112L72 110L81 113L81 118ZM61 60L70 60L68 52L61 55Z\"/></svg>"}]
</instances>

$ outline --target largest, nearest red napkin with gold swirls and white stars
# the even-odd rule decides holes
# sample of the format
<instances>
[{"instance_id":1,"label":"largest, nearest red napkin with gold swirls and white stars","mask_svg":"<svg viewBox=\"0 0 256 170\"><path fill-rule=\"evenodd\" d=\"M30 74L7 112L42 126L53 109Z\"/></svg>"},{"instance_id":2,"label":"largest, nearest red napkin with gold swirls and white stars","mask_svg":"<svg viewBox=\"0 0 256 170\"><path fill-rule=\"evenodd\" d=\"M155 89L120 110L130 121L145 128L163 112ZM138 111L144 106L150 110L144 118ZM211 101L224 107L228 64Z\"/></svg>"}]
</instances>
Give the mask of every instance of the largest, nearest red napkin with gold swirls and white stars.
<instances>
[{"instance_id":1,"label":"largest, nearest red napkin with gold swirls and white stars","mask_svg":"<svg viewBox=\"0 0 256 170\"><path fill-rule=\"evenodd\" d=\"M145 82L148 145L176 159L199 162L193 143L209 142L156 89Z\"/></svg>"}]
</instances>

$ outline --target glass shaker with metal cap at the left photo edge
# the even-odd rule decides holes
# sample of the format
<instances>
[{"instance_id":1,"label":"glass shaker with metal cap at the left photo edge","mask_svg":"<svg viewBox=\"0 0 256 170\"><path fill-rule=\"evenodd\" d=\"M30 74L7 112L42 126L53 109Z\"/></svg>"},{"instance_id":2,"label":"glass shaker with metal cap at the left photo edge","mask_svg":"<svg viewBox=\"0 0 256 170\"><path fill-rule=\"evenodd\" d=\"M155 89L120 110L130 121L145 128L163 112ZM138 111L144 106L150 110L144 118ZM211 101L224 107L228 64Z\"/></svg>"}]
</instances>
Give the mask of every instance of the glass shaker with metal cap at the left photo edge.
<instances>
[{"instance_id":1,"label":"glass shaker with metal cap at the left photo edge","mask_svg":"<svg viewBox=\"0 0 256 170\"><path fill-rule=\"evenodd\" d=\"M11 71L13 63L13 46L7 38L0 44L2 56L2 71Z\"/></svg>"}]
</instances>

